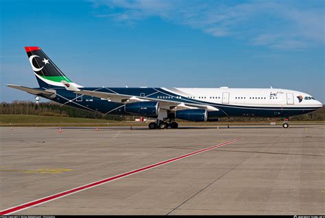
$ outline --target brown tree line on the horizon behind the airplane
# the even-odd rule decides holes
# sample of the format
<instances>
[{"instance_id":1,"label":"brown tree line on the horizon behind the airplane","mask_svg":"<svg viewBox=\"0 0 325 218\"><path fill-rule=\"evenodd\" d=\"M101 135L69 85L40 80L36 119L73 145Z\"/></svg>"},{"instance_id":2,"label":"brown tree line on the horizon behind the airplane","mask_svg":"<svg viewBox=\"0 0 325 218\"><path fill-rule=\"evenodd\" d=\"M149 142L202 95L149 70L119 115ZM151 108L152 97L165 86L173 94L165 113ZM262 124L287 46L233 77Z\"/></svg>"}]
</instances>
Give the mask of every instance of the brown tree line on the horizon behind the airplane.
<instances>
[{"instance_id":1,"label":"brown tree line on the horizon behind the airplane","mask_svg":"<svg viewBox=\"0 0 325 218\"><path fill-rule=\"evenodd\" d=\"M85 111L67 105L60 105L58 103L47 102L47 103L34 103L32 101L20 101L15 100L12 103L1 103L0 114L21 114L21 115L51 115L51 116L62 116L70 118L93 118L93 119L104 119L104 120L134 120L139 116L121 116L121 115L104 115L101 113L95 113L91 111ZM220 121L227 121L228 118L221 118ZM237 122L258 122L267 120L281 120L280 118L230 118L230 121ZM298 115L291 118L291 120L299 121L324 121L325 120L325 107L314 111L312 113Z\"/></svg>"}]
</instances>

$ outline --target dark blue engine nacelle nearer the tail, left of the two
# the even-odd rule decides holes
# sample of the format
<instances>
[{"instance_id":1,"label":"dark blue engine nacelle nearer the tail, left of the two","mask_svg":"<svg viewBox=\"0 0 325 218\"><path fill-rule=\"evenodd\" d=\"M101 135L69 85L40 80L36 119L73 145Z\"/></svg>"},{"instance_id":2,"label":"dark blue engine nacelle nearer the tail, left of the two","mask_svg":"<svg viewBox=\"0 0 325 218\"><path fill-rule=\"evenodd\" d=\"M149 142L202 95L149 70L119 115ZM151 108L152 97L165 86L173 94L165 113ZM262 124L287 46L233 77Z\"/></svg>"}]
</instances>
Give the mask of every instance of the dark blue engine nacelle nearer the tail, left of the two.
<instances>
[{"instance_id":1,"label":"dark blue engine nacelle nearer the tail, left of the two","mask_svg":"<svg viewBox=\"0 0 325 218\"><path fill-rule=\"evenodd\" d=\"M156 101L128 103L125 104L124 111L134 115L158 115L159 103Z\"/></svg>"}]
</instances>

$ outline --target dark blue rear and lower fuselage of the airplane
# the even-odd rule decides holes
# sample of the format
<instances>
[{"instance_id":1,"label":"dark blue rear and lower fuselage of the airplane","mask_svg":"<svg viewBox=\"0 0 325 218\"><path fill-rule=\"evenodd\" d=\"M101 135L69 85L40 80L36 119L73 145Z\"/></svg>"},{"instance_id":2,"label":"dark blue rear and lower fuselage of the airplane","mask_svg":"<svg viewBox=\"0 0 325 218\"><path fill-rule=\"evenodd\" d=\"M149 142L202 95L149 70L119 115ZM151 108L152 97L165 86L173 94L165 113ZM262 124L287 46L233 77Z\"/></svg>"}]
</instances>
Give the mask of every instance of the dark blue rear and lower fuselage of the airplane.
<instances>
[{"instance_id":1,"label":"dark blue rear and lower fuselage of the airplane","mask_svg":"<svg viewBox=\"0 0 325 218\"><path fill-rule=\"evenodd\" d=\"M101 99L93 96L86 95L78 95L74 92L66 90L64 87L56 87L53 88L56 90L56 96L54 98L49 98L49 96L43 96L45 98L49 98L50 100L56 101L57 103L69 105L71 107L77 107L80 109L85 109L88 111L100 112L104 114L111 115L132 115L130 113L125 113L123 105L125 103L115 103L108 101L106 99ZM167 92L161 88L150 88L150 87L84 87L82 90L91 90L97 92L107 92L112 94L123 94L130 96L148 96L151 100L158 100L158 96L162 94L166 94L171 96L171 100L173 102L179 103L195 103L199 105L210 105L213 106L219 111L209 111L208 118L209 120L213 120L214 118L222 118L222 117L238 117L238 116L257 116L257 117L290 117L294 115L301 115L304 113L309 113L317 110L318 108L309 108L309 107L246 107L246 106L238 106L231 104L218 104L218 103L209 103L203 100L194 100L189 99L184 96L179 96L177 94L173 94L171 92Z\"/></svg>"}]
</instances>

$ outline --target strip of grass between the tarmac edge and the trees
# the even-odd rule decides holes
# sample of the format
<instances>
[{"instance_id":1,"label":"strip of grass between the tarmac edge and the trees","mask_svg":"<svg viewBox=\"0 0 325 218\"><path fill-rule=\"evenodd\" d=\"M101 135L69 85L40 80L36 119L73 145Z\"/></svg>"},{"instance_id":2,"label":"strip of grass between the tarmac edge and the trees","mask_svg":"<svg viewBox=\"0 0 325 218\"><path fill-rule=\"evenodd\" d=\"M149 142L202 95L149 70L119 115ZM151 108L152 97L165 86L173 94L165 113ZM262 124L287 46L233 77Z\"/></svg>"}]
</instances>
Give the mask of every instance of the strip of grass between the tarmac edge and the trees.
<instances>
[{"instance_id":1,"label":"strip of grass between the tarmac edge and the trees","mask_svg":"<svg viewBox=\"0 0 325 218\"><path fill-rule=\"evenodd\" d=\"M295 122L290 124L325 124L324 121ZM180 125L222 126L228 122L179 122ZM269 122L229 122L231 125L261 125ZM276 122L282 125L282 122ZM87 118L67 118L46 115L0 115L0 126L147 126L147 122L98 120Z\"/></svg>"}]
</instances>

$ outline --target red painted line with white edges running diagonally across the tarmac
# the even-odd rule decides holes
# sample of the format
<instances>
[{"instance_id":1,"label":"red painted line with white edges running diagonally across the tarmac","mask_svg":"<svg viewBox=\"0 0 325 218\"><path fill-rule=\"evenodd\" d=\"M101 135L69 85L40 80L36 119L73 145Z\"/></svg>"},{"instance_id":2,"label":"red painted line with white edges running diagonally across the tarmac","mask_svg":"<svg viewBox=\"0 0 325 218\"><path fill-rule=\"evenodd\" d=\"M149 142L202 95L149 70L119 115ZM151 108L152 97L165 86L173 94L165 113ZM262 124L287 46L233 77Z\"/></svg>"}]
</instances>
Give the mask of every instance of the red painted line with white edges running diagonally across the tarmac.
<instances>
[{"instance_id":1,"label":"red painted line with white edges running diagonally across the tarmac","mask_svg":"<svg viewBox=\"0 0 325 218\"><path fill-rule=\"evenodd\" d=\"M64 197L64 196L67 196L67 195L71 195L73 193L77 193L79 191L84 191L86 189L91 189L91 188L96 187L98 185L103 185L103 184L105 184L107 182L110 182L112 180L117 180L119 178L123 178L125 176L130 176L132 174L136 174L136 173L139 173L139 172L143 172L143 171L145 171L147 169L152 169L154 167L158 167L160 165L164 165L164 164L167 164L167 163L171 163L173 161L178 161L178 160L184 159L184 158L186 158L188 156L192 156L192 155L195 155L195 154L199 154L199 153L205 152L207 150L211 150L213 148L218 148L218 147L224 146L226 144L230 144L232 142L239 141L240 139L241 138L234 139L232 141L226 141L224 143L217 144L216 146L211 146L209 148L204 148L202 150L197 150L195 152L191 152L189 154L184 154L182 156L178 156L178 157L175 157L173 159L169 159L167 161L162 161L162 162L159 162L159 163L155 163L155 164L152 164L152 165L148 165L146 167L142 167L142 168L139 168L139 169L134 169L134 170L132 170L130 172L126 172L126 173L123 173L123 174L119 174L117 176L112 176L110 178L104 178L103 180L99 180L97 182L92 182L92 183L89 183L87 185L82 185L81 187L77 187L77 188L74 188L74 189L69 189L67 191L63 191L63 192L60 192L60 193L56 193L56 194L50 195L48 197L43 197L43 198L40 198L38 200L34 200L32 202L27 202L27 203L21 204L19 206L14 206L12 208L8 208L8 209L5 209L5 210L1 210L0 211L0 215L9 215L11 213L15 213L15 212L18 212L18 211L21 211L21 210L25 210L25 209L27 209L29 207L32 207L32 206L44 204L44 203L49 202L51 200L56 200L56 199L58 199L60 197Z\"/></svg>"}]
</instances>

